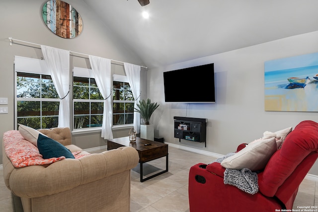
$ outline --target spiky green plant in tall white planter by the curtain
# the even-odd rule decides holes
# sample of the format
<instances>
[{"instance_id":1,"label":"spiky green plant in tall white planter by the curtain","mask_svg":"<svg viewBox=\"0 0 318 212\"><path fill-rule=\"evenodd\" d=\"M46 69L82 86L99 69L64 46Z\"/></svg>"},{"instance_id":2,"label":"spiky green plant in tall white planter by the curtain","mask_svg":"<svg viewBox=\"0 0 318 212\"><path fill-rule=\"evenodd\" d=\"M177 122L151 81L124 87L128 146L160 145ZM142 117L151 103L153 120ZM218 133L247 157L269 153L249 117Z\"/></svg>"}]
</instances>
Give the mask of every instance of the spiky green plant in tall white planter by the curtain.
<instances>
[{"instance_id":1,"label":"spiky green plant in tall white planter by the curtain","mask_svg":"<svg viewBox=\"0 0 318 212\"><path fill-rule=\"evenodd\" d=\"M151 102L150 99L147 99L147 101L143 99L139 100L139 104L136 105L138 108L135 108L135 110L140 113L145 121L145 124L140 126L140 138L154 141L154 126L149 124L149 120L159 104Z\"/></svg>"}]
</instances>

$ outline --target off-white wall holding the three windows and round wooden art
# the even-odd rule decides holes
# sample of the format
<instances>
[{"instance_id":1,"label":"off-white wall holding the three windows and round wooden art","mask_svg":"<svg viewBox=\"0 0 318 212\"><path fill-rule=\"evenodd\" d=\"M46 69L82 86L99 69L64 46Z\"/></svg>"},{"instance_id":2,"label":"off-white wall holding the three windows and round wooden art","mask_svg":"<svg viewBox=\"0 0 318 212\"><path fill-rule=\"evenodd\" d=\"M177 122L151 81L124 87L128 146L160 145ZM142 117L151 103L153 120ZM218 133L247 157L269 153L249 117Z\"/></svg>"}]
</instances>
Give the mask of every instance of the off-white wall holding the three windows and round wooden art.
<instances>
[{"instance_id":1,"label":"off-white wall holding the three windows and round wooden art","mask_svg":"<svg viewBox=\"0 0 318 212\"><path fill-rule=\"evenodd\" d=\"M8 106L8 114L0 114L0 135L14 129L14 56L37 59L43 57L40 49L17 44L9 46L8 37L144 66L142 60L127 49L128 45L118 40L118 36L101 23L82 0L67 1L77 9L83 20L83 31L73 39L58 37L44 25L41 14L44 2L46 1L0 1L0 97L8 98L8 105L5 105ZM71 64L89 68L88 60L82 58L71 57ZM128 135L128 132L129 129L127 132L118 130L114 132L114 137ZM100 132L73 136L73 142L82 148L106 144L106 141L100 138ZM0 164L2 164L2 152Z\"/></svg>"}]
</instances>

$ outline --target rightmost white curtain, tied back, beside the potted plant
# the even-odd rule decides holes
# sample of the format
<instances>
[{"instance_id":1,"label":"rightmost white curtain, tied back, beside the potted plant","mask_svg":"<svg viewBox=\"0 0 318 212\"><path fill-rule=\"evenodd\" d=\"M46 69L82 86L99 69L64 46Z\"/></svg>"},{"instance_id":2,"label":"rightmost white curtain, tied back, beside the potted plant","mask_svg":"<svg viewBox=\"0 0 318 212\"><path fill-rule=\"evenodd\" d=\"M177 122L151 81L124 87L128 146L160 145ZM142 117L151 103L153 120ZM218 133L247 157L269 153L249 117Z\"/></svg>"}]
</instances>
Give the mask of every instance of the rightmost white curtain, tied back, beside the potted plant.
<instances>
[{"instance_id":1,"label":"rightmost white curtain, tied back, beside the potted plant","mask_svg":"<svg viewBox=\"0 0 318 212\"><path fill-rule=\"evenodd\" d=\"M140 66L124 63L124 68L126 72L126 76L128 77L128 81L133 92L133 96L135 99L135 105L139 102L140 97ZM140 113L134 112L134 129L137 133L140 132Z\"/></svg>"}]
</instances>

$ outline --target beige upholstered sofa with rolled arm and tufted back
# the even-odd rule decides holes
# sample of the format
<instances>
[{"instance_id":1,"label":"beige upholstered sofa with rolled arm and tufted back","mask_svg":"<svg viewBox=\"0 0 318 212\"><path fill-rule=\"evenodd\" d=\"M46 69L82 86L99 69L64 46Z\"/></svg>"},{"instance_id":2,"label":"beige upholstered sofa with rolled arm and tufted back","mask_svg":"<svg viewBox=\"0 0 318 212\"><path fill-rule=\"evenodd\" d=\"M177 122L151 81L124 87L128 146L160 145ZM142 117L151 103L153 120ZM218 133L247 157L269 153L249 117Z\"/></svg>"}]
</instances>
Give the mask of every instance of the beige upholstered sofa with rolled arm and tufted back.
<instances>
[{"instance_id":1,"label":"beige upholstered sofa with rolled arm and tufted back","mask_svg":"<svg viewBox=\"0 0 318 212\"><path fill-rule=\"evenodd\" d=\"M71 144L69 128L39 130L72 152L88 154L46 165L13 166L4 141L23 137L19 131L4 133L3 177L6 187L21 198L24 212L129 212L130 169L138 164L133 147L89 154ZM21 137L21 138L20 138Z\"/></svg>"}]
</instances>

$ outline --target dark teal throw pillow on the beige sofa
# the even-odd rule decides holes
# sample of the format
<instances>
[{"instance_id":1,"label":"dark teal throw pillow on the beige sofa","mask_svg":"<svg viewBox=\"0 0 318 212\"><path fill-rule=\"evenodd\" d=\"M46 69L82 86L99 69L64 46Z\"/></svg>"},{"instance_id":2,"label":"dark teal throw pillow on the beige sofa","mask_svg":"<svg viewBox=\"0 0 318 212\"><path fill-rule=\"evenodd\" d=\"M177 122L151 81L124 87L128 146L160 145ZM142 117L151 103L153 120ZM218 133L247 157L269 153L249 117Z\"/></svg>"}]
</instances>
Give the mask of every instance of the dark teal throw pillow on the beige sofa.
<instances>
[{"instance_id":1,"label":"dark teal throw pillow on the beige sofa","mask_svg":"<svg viewBox=\"0 0 318 212\"><path fill-rule=\"evenodd\" d=\"M62 145L58 141L54 141L49 137L42 136L41 134L39 134L38 138L38 149L44 159L60 156L75 159L72 152L64 145Z\"/></svg>"}]
</instances>

